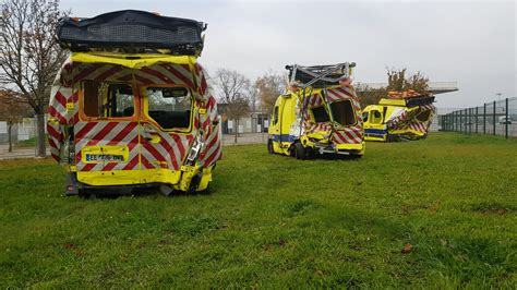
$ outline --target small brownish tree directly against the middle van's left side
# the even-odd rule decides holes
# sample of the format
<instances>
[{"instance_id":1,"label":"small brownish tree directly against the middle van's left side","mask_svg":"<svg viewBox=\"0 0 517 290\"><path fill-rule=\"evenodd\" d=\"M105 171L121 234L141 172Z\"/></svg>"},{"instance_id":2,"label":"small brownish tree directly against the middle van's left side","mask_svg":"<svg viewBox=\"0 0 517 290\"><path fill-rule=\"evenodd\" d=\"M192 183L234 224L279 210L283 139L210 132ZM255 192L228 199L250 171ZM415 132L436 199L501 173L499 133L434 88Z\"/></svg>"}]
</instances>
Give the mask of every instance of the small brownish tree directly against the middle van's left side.
<instances>
[{"instance_id":1,"label":"small brownish tree directly against the middle van's left side","mask_svg":"<svg viewBox=\"0 0 517 290\"><path fill-rule=\"evenodd\" d=\"M262 110L267 112L273 111L277 97L286 89L286 83L281 75L273 72L257 77L254 86L261 100Z\"/></svg>"}]
</instances>

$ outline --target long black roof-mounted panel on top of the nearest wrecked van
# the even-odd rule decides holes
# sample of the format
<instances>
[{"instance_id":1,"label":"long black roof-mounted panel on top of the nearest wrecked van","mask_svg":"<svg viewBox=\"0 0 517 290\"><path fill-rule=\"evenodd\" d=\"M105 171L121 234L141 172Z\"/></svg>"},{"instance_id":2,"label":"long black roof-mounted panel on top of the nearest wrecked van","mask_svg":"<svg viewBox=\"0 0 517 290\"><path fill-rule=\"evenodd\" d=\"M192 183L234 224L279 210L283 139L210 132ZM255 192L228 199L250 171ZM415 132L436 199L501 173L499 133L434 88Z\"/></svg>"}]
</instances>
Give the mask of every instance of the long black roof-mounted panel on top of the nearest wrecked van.
<instances>
[{"instance_id":1,"label":"long black roof-mounted panel on top of the nearest wrecked van","mask_svg":"<svg viewBox=\"0 0 517 290\"><path fill-rule=\"evenodd\" d=\"M93 19L63 17L57 27L61 47L72 51L121 50L197 56L203 50L206 24L188 19L122 10Z\"/></svg>"}]
</instances>

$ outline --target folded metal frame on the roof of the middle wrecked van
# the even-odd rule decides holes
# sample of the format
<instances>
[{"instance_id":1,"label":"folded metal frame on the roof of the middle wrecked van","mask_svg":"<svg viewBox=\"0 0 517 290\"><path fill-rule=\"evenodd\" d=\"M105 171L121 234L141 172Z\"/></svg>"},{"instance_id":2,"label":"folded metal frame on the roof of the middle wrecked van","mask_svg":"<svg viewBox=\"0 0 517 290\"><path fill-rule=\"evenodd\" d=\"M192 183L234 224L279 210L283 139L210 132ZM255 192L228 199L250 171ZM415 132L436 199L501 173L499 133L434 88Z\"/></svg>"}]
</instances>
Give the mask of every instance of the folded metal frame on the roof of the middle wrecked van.
<instances>
[{"instance_id":1,"label":"folded metal frame on the roof of the middle wrecked van","mask_svg":"<svg viewBox=\"0 0 517 290\"><path fill-rule=\"evenodd\" d=\"M289 71L289 81L299 82L302 86L323 87L337 85L339 78L349 76L349 68L354 68L356 62L345 62L330 65L286 65Z\"/></svg>"}]
</instances>

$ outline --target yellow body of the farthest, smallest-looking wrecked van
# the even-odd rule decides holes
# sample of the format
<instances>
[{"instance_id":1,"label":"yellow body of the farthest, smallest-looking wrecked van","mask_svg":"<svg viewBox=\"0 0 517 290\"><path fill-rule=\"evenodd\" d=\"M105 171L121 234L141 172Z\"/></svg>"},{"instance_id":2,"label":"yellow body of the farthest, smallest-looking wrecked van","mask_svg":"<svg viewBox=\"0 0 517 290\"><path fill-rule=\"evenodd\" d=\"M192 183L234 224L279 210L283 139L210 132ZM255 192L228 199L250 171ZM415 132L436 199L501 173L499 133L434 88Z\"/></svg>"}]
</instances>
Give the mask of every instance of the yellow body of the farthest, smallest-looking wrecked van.
<instances>
[{"instance_id":1,"label":"yellow body of the farthest, smallest-looking wrecked van","mask_svg":"<svg viewBox=\"0 0 517 290\"><path fill-rule=\"evenodd\" d=\"M393 142L428 135L434 113L432 105L411 106L406 99L383 98L363 109L364 140Z\"/></svg>"}]
</instances>

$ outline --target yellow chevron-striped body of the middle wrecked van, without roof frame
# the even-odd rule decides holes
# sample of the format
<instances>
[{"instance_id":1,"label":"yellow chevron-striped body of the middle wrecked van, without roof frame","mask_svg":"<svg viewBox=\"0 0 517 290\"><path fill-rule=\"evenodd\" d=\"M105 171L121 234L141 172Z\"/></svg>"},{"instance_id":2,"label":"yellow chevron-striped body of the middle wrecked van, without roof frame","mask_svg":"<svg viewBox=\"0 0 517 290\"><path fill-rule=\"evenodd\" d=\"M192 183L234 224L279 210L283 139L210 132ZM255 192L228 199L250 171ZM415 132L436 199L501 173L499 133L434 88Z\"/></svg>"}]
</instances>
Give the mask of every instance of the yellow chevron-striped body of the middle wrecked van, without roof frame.
<instances>
[{"instance_id":1,"label":"yellow chevron-striped body of the middle wrecked van, without roof frame","mask_svg":"<svg viewBox=\"0 0 517 290\"><path fill-rule=\"evenodd\" d=\"M362 138L362 120L359 105L354 97L353 88L347 87L345 99L326 101L323 97L325 92L341 92L339 85L324 88L310 88L309 94L302 90L291 92L280 95L274 107L272 123L268 128L268 150L269 153L294 156L299 159L313 157L317 154L337 154L362 156L365 143ZM309 107L306 112L302 112L304 104L313 100L318 106L320 112L330 114L330 104L347 104L348 119L353 120L342 125L336 121L327 120L317 122L313 110ZM341 104L342 105L342 104ZM300 156L301 149L303 156ZM302 148L301 148L302 147Z\"/></svg>"}]
</instances>

